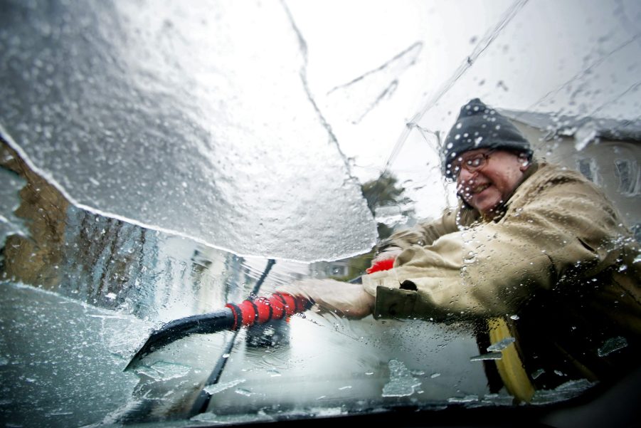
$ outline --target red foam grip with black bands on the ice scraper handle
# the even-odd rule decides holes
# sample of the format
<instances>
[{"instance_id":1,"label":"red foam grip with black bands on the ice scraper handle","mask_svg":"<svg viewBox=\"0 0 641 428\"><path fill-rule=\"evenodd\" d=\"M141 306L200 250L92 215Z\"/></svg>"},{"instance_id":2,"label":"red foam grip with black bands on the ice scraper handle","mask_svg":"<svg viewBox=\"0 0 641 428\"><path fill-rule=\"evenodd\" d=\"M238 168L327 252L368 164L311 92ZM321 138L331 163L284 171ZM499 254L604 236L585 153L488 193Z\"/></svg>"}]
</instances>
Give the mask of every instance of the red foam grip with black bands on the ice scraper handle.
<instances>
[{"instance_id":1,"label":"red foam grip with black bands on the ice scraper handle","mask_svg":"<svg viewBox=\"0 0 641 428\"><path fill-rule=\"evenodd\" d=\"M270 298L259 297L245 300L239 305L227 303L234 317L233 330L240 326L249 327L253 324L267 323L269 320L280 320L285 316L294 315L312 306L312 303L302 296L292 296L287 293L274 293Z\"/></svg>"}]
</instances>

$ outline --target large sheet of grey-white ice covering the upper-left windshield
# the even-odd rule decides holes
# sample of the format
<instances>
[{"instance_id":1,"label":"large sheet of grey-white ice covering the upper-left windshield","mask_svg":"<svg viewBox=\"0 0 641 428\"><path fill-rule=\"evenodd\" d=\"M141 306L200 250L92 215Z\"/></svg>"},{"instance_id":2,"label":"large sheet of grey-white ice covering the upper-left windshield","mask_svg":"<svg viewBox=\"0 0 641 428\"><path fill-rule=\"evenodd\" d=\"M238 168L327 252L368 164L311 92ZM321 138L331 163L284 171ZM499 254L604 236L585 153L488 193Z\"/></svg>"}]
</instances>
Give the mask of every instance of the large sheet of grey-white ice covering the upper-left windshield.
<instances>
[{"instance_id":1,"label":"large sheet of grey-white ice covering the upper-left windshield","mask_svg":"<svg viewBox=\"0 0 641 428\"><path fill-rule=\"evenodd\" d=\"M374 244L282 4L3 9L0 132L77 206L240 255Z\"/></svg>"}]
</instances>

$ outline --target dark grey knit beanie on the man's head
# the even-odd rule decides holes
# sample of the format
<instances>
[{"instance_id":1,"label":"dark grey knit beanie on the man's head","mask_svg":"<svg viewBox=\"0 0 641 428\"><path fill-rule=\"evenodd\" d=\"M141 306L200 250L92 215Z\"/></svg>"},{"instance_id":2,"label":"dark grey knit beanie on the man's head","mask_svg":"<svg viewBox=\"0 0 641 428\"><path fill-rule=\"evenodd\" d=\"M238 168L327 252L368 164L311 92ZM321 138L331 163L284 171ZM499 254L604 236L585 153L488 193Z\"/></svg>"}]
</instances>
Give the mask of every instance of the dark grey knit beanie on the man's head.
<instances>
[{"instance_id":1,"label":"dark grey knit beanie on the man's head","mask_svg":"<svg viewBox=\"0 0 641 428\"><path fill-rule=\"evenodd\" d=\"M528 159L532 155L530 143L512 122L484 105L480 99L474 98L462 106L461 113L441 148L445 177L452 178L450 164L459 155L482 148L524 152Z\"/></svg>"}]
</instances>

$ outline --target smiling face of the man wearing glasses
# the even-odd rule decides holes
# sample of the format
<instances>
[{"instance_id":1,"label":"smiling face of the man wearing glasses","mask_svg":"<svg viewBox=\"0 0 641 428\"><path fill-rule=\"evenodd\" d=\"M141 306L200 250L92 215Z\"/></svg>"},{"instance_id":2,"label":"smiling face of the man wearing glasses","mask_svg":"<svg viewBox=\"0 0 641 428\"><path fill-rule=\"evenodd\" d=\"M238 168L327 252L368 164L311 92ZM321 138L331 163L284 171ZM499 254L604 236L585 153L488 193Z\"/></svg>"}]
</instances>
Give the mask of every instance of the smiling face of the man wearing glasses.
<instances>
[{"instance_id":1,"label":"smiling face of the man wearing glasses","mask_svg":"<svg viewBox=\"0 0 641 428\"><path fill-rule=\"evenodd\" d=\"M514 152L488 149L465 152L455 165L458 194L484 216L492 216L507 200L529 166Z\"/></svg>"}]
</instances>

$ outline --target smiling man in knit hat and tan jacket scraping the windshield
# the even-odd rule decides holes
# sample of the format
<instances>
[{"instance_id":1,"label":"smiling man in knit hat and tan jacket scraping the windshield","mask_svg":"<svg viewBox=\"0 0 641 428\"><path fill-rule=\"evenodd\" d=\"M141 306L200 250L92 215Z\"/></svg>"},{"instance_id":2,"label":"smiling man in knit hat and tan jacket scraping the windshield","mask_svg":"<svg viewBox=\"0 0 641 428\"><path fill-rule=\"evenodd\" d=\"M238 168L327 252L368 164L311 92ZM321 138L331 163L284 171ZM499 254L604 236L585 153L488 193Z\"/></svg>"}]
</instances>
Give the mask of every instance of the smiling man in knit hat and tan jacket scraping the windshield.
<instances>
[{"instance_id":1,"label":"smiling man in knit hat and tan jacket scraping the windshield","mask_svg":"<svg viewBox=\"0 0 641 428\"><path fill-rule=\"evenodd\" d=\"M441 155L460 203L381 242L374 266L391 258L393 268L362 284L283 291L352 318L482 323L488 345L516 340L497 369L520 400L637 364L639 250L603 192L534 160L516 127L479 99L461 108Z\"/></svg>"}]
</instances>

